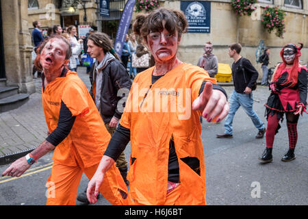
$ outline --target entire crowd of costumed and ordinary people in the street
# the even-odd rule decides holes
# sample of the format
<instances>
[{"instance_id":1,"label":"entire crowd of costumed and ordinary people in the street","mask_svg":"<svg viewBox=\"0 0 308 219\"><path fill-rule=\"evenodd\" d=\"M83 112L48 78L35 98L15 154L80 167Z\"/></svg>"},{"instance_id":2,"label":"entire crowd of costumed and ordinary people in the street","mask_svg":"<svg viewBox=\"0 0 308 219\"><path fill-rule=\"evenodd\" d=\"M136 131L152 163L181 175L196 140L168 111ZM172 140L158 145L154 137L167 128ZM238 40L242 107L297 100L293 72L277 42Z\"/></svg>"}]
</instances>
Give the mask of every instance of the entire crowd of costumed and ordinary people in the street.
<instances>
[{"instance_id":1,"label":"entire crowd of costumed and ordinary people in the street","mask_svg":"<svg viewBox=\"0 0 308 219\"><path fill-rule=\"evenodd\" d=\"M214 78L218 58L211 42L205 43L197 66L179 60L177 50L188 27L179 10L159 8L139 14L120 57L107 34L90 33L86 53L96 60L90 70L90 92L76 73L77 55L84 48L84 42L75 37L76 27L62 33L62 28L55 26L43 42L37 31L40 24L34 23L34 27L34 64L42 72L49 133L38 148L17 159L2 175L20 177L54 150L47 185L55 195L47 197L47 205L75 205L83 172L90 181L81 199L88 203L96 203L101 192L113 205L205 205L200 118L208 122L226 118L224 133L216 137L233 138L233 117L240 106L258 130L255 138L266 136L261 162L272 162L274 136L284 115L290 149L282 161L295 159L297 122L307 106L307 69L298 63L303 44L290 43L281 49L282 64L274 71L265 105L266 127L253 110L259 74L240 55L239 43L229 46L234 60L234 90L229 101ZM261 57L263 66L267 67L269 54L267 49ZM129 92L120 92L123 89ZM172 101L179 98L185 105L180 101L173 108ZM154 108L158 111L153 112ZM123 151L129 142L127 164Z\"/></svg>"}]
</instances>

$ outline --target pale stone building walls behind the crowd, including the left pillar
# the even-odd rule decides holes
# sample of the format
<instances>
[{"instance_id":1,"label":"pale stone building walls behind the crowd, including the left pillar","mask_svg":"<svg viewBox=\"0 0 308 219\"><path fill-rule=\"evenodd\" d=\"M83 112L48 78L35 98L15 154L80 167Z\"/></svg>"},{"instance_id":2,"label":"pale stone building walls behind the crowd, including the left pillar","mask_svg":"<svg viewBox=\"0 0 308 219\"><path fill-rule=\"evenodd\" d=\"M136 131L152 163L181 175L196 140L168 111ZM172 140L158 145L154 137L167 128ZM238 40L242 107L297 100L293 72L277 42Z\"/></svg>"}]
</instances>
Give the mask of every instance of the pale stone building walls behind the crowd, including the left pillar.
<instances>
[{"instance_id":1,"label":"pale stone building walls behind the crowd, including the left pillar","mask_svg":"<svg viewBox=\"0 0 308 219\"><path fill-rule=\"evenodd\" d=\"M228 46L233 42L240 42L243 46L241 55L251 60L259 70L259 77L261 77L261 66L257 64L255 58L260 40L263 40L266 47L272 51L270 66L281 62L279 52L281 47L288 42L303 42L304 48L300 60L304 64L308 62L307 0L296 0L300 2L300 7L287 4L290 0L258 0L261 12L267 5L278 5L287 13L284 38L278 38L274 33L268 34L258 19L253 20L251 16L237 17L231 9L231 0L208 1L211 3L211 31L202 34L183 34L178 52L183 62L196 64L198 57L203 54L205 42L211 41L214 44L214 53L218 56L218 61L232 64L233 60L227 54ZM40 21L42 27L50 27L55 24L66 26L66 21L78 20L79 24L95 25L98 30L101 30L105 23L110 22L106 18L97 16L98 0L80 0L79 3L73 5L73 11L70 11L70 6L75 0L0 0L0 2L2 21L0 22L2 25L2 28L0 27L2 31L2 33L0 31L0 51L3 53L0 55L0 79L6 78L8 86L18 86L20 92L35 92L31 73L33 21ZM122 5L116 5L116 1L112 0L110 2L113 2L110 5L112 13L120 12L125 5L125 0ZM161 0L160 5L180 10L181 1ZM66 18L68 16L72 19ZM135 16L136 13L133 18ZM119 18L120 14L114 15L114 19Z\"/></svg>"}]
</instances>

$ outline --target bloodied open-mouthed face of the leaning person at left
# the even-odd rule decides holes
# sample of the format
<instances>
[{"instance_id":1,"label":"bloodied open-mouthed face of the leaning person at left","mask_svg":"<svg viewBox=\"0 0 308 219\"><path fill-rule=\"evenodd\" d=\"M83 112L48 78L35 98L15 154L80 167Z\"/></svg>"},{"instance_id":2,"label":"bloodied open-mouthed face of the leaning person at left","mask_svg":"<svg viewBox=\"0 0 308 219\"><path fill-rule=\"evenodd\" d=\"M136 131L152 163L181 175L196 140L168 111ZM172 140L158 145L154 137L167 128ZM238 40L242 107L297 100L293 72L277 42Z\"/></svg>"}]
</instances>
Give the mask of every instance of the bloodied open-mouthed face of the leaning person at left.
<instances>
[{"instance_id":1,"label":"bloodied open-mouthed face of the leaning person at left","mask_svg":"<svg viewBox=\"0 0 308 219\"><path fill-rule=\"evenodd\" d=\"M66 60L67 44L61 39L51 39L40 53L40 65L43 70L53 71L60 69Z\"/></svg>"}]
</instances>

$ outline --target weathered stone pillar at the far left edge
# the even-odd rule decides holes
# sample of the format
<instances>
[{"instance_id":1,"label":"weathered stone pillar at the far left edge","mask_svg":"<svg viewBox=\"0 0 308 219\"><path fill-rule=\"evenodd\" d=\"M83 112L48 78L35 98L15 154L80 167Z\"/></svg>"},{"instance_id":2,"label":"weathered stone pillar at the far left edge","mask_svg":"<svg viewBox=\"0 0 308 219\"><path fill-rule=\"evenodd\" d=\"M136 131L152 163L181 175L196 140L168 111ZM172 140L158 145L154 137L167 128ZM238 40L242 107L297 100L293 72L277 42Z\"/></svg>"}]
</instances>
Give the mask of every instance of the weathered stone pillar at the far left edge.
<instances>
[{"instance_id":1,"label":"weathered stone pillar at the far left edge","mask_svg":"<svg viewBox=\"0 0 308 219\"><path fill-rule=\"evenodd\" d=\"M27 22L27 1L1 0L1 39L3 63L1 78L7 86L18 86L19 92L33 93L31 51L33 50Z\"/></svg>"}]
</instances>

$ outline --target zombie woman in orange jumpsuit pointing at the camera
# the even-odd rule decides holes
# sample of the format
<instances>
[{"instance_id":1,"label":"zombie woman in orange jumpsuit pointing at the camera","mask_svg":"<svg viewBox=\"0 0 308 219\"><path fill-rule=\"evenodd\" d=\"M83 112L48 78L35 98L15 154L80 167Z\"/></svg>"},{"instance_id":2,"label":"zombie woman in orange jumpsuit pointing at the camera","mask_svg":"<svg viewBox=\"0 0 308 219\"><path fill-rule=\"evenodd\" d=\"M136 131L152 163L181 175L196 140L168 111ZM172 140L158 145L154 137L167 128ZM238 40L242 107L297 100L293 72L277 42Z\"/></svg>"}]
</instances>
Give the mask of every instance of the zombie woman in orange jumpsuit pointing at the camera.
<instances>
[{"instance_id":1,"label":"zombie woman in orange jumpsuit pointing at the camera","mask_svg":"<svg viewBox=\"0 0 308 219\"><path fill-rule=\"evenodd\" d=\"M120 125L88 183L90 203L130 140L129 205L205 205L200 116L222 120L229 105L216 79L177 58L187 25L182 12L164 8L136 18L133 30L144 38L155 66L133 81Z\"/></svg>"}]
</instances>

